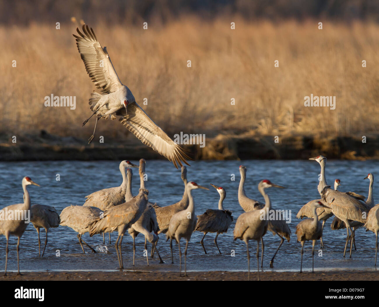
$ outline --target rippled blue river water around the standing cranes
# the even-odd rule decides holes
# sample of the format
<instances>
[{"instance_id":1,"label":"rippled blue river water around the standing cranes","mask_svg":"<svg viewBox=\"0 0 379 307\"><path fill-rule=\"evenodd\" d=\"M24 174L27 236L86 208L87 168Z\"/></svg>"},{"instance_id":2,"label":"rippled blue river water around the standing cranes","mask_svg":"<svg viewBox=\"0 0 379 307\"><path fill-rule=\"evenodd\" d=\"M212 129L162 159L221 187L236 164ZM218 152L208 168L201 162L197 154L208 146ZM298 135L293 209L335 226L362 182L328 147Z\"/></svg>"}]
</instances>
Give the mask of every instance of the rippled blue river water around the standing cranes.
<instances>
[{"instance_id":1,"label":"rippled blue river water around the standing cranes","mask_svg":"<svg viewBox=\"0 0 379 307\"><path fill-rule=\"evenodd\" d=\"M138 161L132 161L138 163ZM246 245L243 241L233 241L233 229L238 216L243 213L238 204L238 184L240 181L239 166L243 164L247 168L245 190L247 196L263 202L263 197L257 190L258 182L269 179L271 182L285 186L286 189L270 188L267 191L271 197L272 206L275 209L291 210L290 229L292 231L289 243L285 241L276 255L274 268L269 268L269 260L279 245L280 238L268 232L264 237L265 255L263 270L298 271L300 268L301 245L296 241L296 218L298 210L309 200L318 199L317 192L318 174L320 166L311 160L246 160L246 161L192 161L188 166L188 180L200 185L208 186L207 190L194 190L196 214L202 214L208 208L217 208L219 194L210 183L222 186L226 190L224 208L233 211L234 221L226 234L218 237L218 246L222 255L213 243L215 234L208 233L204 244L208 254L200 245L202 233L193 233L188 246L187 269L188 271L246 271ZM22 200L21 180L24 176L31 177L41 185L28 186L32 204L45 204L56 208L60 213L63 208L72 205L82 205L85 196L94 191L113 186L119 186L122 176L119 172L119 161L33 161L33 162L1 162L0 163L0 208L6 205L17 204ZM133 169L133 193L138 193L138 170ZM337 161L328 160L326 164L326 179L332 185L334 179L341 180L340 191L354 191L365 196L368 195L368 180L363 178L372 172L379 174L379 161ZM164 160L148 160L146 163L147 182L151 202L160 205L171 205L182 198L184 185L180 179L180 170L176 170L172 163ZM60 180L57 181L57 174ZM233 178L234 177L234 178ZM235 179L235 180L233 180ZM374 199L377 196L374 183ZM316 245L315 270L331 269L367 269L374 270L375 235L360 228L356 231L357 251L352 253L352 258L343 258L346 230L331 230L330 218L324 227L324 249L319 250L319 241ZM38 257L38 236L33 225L29 225L20 240L20 269L21 271L45 271L45 270L114 270L118 268L117 255L114 249L114 241L117 233L112 233L112 244L108 244L106 235L107 253L91 253L85 247L83 254L74 230L60 226L49 230L49 242L44 257ZM41 229L42 246L45 232ZM88 233L83 239L92 247L101 247L103 240L101 235L89 237ZM174 264L171 264L171 253L165 236L160 234L158 250L166 263L159 264L157 256L150 260L147 266L144 257L144 237L136 238L136 265L133 266L132 238L125 235L123 240L122 255L124 268L130 270L179 270L179 253L174 244ZM182 241L184 247L185 241ZM5 266L5 237L0 236L0 271ZM17 238L9 240L8 269L17 269L16 257ZM256 270L255 252L257 244L251 241L251 269ZM151 244L148 243L150 253ZM303 269L312 268L312 243L306 242L303 258ZM57 254L59 251L59 257ZM184 261L184 260L183 260Z\"/></svg>"}]
</instances>

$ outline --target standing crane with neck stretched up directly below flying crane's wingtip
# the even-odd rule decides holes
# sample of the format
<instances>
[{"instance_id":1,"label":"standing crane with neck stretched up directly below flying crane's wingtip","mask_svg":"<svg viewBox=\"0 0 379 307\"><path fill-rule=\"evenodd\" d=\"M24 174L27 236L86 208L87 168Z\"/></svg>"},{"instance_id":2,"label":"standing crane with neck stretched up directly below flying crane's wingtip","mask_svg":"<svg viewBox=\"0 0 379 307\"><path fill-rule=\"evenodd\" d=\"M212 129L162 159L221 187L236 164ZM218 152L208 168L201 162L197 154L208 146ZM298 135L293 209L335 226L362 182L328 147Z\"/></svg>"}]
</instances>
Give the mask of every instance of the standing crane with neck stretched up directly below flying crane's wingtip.
<instances>
[{"instance_id":1,"label":"standing crane with neck stretched up directly below flying crane's wingtip","mask_svg":"<svg viewBox=\"0 0 379 307\"><path fill-rule=\"evenodd\" d=\"M166 233L168 231L169 225L170 225L170 219L172 216L179 212L184 210L185 208L188 207L188 194L186 192L186 186L187 186L187 167L182 166L182 175L181 178L184 182L184 192L182 199L179 200L179 202L169 205L169 206L163 206L159 207L158 205L153 205L153 208L155 210L155 213L157 215L157 221L158 221L158 226L159 226L159 231L158 234L160 233ZM155 246L157 246L157 242L155 243ZM170 246L171 246L171 251L172 251L172 239L170 240ZM152 256L154 253L152 253ZM174 257L171 253L171 263L174 263Z\"/></svg>"}]
</instances>

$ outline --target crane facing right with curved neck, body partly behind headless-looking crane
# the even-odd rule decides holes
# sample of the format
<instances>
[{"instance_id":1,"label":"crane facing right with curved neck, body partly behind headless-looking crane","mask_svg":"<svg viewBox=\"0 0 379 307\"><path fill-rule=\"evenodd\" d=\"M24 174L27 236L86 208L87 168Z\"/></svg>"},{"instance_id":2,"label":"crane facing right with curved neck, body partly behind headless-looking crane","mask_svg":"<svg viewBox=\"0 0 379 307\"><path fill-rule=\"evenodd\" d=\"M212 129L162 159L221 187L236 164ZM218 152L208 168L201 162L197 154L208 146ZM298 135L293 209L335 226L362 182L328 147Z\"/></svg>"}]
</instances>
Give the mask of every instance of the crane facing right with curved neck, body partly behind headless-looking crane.
<instances>
[{"instance_id":1,"label":"crane facing right with curved neck, body partly behind headless-looking crane","mask_svg":"<svg viewBox=\"0 0 379 307\"><path fill-rule=\"evenodd\" d=\"M110 207L122 204L125 202L125 193L127 190L127 178L125 175L125 169L138 168L138 165L133 164L127 160L121 161L119 169L122 175L122 183L120 186L114 188L107 188L100 191L96 191L86 196L86 202L83 206L97 207L104 211ZM105 243L104 233L103 242ZM109 243L111 243L111 234L109 234Z\"/></svg>"}]
</instances>

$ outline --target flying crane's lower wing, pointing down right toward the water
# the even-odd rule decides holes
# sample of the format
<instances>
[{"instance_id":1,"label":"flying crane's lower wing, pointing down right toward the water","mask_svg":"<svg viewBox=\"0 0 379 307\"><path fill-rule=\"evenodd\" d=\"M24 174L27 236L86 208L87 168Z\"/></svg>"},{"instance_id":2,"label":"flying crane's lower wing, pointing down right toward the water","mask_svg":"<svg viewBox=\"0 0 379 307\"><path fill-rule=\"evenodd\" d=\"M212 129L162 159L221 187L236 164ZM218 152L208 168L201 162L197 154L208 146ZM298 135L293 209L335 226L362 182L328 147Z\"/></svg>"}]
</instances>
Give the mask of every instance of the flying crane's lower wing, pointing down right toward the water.
<instances>
[{"instance_id":1,"label":"flying crane's lower wing, pointing down right toward the water","mask_svg":"<svg viewBox=\"0 0 379 307\"><path fill-rule=\"evenodd\" d=\"M151 147L160 155L168 158L175 167L182 162L189 165L185 159L193 160L185 154L178 144L172 141L164 131L158 127L136 102L129 103L128 114L120 117L119 121L132 132L142 143Z\"/></svg>"}]
</instances>

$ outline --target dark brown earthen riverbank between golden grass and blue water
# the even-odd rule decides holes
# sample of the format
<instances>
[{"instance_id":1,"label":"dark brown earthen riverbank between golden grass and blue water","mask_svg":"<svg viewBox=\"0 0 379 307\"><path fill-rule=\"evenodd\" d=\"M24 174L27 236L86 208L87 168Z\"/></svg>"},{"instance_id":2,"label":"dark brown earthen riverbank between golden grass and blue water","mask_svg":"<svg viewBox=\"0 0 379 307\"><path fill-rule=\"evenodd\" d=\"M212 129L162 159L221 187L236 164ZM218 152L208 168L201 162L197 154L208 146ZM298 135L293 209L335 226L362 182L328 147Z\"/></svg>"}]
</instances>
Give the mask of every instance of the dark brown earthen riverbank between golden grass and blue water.
<instances>
[{"instance_id":1,"label":"dark brown earthen riverbank between golden grass and blue water","mask_svg":"<svg viewBox=\"0 0 379 307\"><path fill-rule=\"evenodd\" d=\"M277 141L277 143L276 143ZM205 146L183 145L195 160L244 159L308 159L322 154L330 159L379 159L379 135L321 136L287 135L262 136L254 133L219 134L205 139ZM25 160L138 160L162 159L157 152L144 146L132 135L126 141L105 140L87 144L85 139L58 137L42 131L39 135L12 136L0 139L0 161Z\"/></svg>"}]
</instances>

